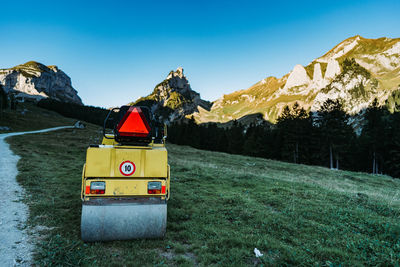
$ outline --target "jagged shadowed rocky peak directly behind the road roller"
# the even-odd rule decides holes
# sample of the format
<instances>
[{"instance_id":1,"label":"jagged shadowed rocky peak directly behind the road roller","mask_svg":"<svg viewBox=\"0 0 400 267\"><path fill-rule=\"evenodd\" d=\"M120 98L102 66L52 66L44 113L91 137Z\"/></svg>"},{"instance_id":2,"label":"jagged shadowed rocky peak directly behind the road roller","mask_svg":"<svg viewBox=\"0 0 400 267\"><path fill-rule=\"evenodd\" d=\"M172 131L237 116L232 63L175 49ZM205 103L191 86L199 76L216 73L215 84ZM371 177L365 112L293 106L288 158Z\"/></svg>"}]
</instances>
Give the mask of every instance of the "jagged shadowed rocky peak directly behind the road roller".
<instances>
[{"instance_id":1,"label":"jagged shadowed rocky peak directly behind the road roller","mask_svg":"<svg viewBox=\"0 0 400 267\"><path fill-rule=\"evenodd\" d=\"M197 112L199 107L206 110L211 107L210 102L202 100L200 94L192 90L182 67L171 71L156 85L153 93L131 104L148 106L159 121L167 124Z\"/></svg>"}]
</instances>

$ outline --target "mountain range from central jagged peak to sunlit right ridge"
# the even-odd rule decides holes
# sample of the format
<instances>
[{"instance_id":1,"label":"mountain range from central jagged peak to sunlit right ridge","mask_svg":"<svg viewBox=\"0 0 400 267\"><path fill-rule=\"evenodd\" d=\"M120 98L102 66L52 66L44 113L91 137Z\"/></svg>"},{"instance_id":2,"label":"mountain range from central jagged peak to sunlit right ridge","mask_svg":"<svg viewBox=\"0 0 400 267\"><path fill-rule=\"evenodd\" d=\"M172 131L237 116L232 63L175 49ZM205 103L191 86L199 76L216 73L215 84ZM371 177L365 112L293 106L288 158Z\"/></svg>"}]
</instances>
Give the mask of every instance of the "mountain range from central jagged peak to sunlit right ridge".
<instances>
[{"instance_id":1,"label":"mountain range from central jagged peak to sunlit right ridge","mask_svg":"<svg viewBox=\"0 0 400 267\"><path fill-rule=\"evenodd\" d=\"M340 99L351 115L375 99L394 111L400 104L400 38L348 38L307 66L296 65L281 78L266 77L212 103L200 99L178 68L153 93L132 104L150 104L166 122L183 116L197 123L225 123L248 116L276 122L285 106L297 102L307 111L318 111L327 99Z\"/></svg>"}]
</instances>

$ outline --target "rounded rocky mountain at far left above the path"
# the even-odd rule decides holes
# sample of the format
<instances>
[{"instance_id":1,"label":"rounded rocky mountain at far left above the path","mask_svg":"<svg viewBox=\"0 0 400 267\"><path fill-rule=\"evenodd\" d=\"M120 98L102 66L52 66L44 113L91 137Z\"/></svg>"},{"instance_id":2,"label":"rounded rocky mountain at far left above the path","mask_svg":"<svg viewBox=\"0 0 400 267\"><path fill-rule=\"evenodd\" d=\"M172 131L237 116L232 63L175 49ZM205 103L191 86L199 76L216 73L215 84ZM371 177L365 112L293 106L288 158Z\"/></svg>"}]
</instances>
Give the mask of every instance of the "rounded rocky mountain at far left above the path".
<instances>
[{"instance_id":1,"label":"rounded rocky mountain at far left above the path","mask_svg":"<svg viewBox=\"0 0 400 267\"><path fill-rule=\"evenodd\" d=\"M82 105L78 92L71 85L71 78L57 66L30 61L0 69L0 84L7 94L15 93L16 97L35 100L49 97Z\"/></svg>"}]
</instances>

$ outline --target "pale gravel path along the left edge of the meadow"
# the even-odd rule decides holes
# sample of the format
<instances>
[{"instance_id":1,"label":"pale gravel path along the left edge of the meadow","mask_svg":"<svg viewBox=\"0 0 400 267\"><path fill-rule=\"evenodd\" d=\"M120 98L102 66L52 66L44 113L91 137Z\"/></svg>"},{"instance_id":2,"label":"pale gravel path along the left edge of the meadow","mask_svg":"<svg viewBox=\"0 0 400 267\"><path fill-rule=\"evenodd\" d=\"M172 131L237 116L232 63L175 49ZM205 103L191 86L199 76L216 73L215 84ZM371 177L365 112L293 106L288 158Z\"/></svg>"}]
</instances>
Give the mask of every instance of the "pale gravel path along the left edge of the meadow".
<instances>
[{"instance_id":1,"label":"pale gravel path along the left edge of the meadow","mask_svg":"<svg viewBox=\"0 0 400 267\"><path fill-rule=\"evenodd\" d=\"M0 134L0 266L30 266L33 248L24 229L29 210L20 200L25 192L16 180L19 156L10 150L5 138L65 128L74 127L62 126L39 131Z\"/></svg>"}]
</instances>

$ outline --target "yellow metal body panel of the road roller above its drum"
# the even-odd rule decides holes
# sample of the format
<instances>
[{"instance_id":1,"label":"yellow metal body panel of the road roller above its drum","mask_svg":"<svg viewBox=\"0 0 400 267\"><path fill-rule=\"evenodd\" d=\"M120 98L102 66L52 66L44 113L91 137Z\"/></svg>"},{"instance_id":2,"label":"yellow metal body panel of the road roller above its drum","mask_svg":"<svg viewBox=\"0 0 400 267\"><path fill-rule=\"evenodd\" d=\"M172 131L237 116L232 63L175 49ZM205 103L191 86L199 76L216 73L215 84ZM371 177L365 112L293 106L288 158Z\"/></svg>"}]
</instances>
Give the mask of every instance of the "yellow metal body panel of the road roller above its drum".
<instances>
[{"instance_id":1,"label":"yellow metal body panel of the road roller above its drum","mask_svg":"<svg viewBox=\"0 0 400 267\"><path fill-rule=\"evenodd\" d=\"M103 138L98 147L89 147L86 164L82 171L82 200L115 197L159 197L167 200L170 193L168 153L164 144L148 146L122 146L112 135ZM135 171L123 175L120 165L130 161ZM90 183L105 182L104 194L91 194ZM148 182L161 182L165 190L160 194L148 194Z\"/></svg>"}]
</instances>

